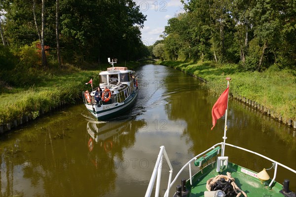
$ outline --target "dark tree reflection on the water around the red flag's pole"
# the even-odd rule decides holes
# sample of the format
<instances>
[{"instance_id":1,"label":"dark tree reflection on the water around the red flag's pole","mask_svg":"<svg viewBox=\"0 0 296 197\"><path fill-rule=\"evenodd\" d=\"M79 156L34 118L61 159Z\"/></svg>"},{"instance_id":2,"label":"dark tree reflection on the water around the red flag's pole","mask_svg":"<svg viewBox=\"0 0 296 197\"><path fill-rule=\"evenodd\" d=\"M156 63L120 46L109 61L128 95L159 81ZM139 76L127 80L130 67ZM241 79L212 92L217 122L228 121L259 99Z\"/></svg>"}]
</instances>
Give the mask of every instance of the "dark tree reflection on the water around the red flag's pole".
<instances>
[{"instance_id":1,"label":"dark tree reflection on the water around the red flag's pole","mask_svg":"<svg viewBox=\"0 0 296 197\"><path fill-rule=\"evenodd\" d=\"M174 87L168 86L168 92L175 91ZM212 127L212 105L216 99L208 96L204 90L183 90L172 94L166 105L166 112L170 120L185 120L187 128L183 135L192 142L191 150L200 151L211 144L222 141L224 117L218 120L213 131ZM234 99L229 100L227 142L241 145L254 150L257 144L278 144L283 148L289 147L295 151L296 137L293 129L286 127L270 117L263 115L257 110ZM255 137L253 139L253 137ZM251 139L252 140L246 140ZM280 139L282 142L278 142ZM205 144L206 147L203 145ZM268 142L267 142L268 141ZM261 147L257 147L258 151ZM194 151L194 154L198 152Z\"/></svg>"}]
</instances>

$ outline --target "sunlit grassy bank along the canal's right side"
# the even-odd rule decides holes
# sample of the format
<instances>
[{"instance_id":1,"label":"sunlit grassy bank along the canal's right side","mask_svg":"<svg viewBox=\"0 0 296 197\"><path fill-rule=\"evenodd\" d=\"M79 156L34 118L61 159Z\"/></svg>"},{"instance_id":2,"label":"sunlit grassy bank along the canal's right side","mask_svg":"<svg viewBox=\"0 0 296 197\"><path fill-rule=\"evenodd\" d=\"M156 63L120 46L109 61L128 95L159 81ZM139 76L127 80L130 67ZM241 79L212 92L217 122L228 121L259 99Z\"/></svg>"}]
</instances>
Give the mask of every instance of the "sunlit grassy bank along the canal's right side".
<instances>
[{"instance_id":1,"label":"sunlit grassy bank along the canal's right side","mask_svg":"<svg viewBox=\"0 0 296 197\"><path fill-rule=\"evenodd\" d=\"M231 77L230 93L241 95L272 110L284 121L296 120L296 71L271 66L264 72L242 72L238 65L218 65L213 62L185 63L164 61L160 65L174 67L207 81L206 88L221 94Z\"/></svg>"}]
</instances>

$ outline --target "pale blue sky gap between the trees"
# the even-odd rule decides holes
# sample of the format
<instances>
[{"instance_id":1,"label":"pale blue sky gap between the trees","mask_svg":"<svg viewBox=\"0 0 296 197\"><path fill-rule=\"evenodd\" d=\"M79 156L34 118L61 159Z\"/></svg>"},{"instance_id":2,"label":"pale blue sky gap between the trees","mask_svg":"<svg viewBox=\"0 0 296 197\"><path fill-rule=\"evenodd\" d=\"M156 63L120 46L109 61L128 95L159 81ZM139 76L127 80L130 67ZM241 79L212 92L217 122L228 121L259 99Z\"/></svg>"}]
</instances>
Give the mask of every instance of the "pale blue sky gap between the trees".
<instances>
[{"instance_id":1,"label":"pale blue sky gap between the trees","mask_svg":"<svg viewBox=\"0 0 296 197\"><path fill-rule=\"evenodd\" d=\"M140 10L147 15L144 28L141 29L142 41L146 46L153 45L160 40L168 19L184 12L180 0L133 0L140 6Z\"/></svg>"}]
</instances>

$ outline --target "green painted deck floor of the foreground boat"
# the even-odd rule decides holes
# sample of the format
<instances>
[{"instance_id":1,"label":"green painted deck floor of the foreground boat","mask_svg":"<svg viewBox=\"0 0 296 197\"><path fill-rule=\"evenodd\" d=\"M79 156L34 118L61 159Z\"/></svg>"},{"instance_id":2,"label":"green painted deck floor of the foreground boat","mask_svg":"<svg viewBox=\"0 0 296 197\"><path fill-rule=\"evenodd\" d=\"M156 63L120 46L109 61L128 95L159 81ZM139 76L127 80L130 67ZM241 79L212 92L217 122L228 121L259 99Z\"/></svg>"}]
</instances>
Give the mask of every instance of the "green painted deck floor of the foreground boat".
<instances>
[{"instance_id":1,"label":"green painted deck floor of the foreground boat","mask_svg":"<svg viewBox=\"0 0 296 197\"><path fill-rule=\"evenodd\" d=\"M241 166L228 163L227 168L222 173L216 172L216 166L217 164L214 162L197 172L192 179L193 187L190 186L189 180L186 181L186 189L190 191L190 197L203 197L204 191L207 191L207 180L219 174L226 175L226 172L231 172L231 176L235 179L236 185L244 191L248 197L284 197L284 195L279 193L279 191L282 190L282 185L277 182L273 183L273 187L270 190L268 189L268 184L271 180L267 181L268 184L265 186L257 177L241 172L241 169L245 169ZM249 169L246 170L248 170L251 174L256 173ZM243 195L241 195L241 197L243 197Z\"/></svg>"}]
</instances>

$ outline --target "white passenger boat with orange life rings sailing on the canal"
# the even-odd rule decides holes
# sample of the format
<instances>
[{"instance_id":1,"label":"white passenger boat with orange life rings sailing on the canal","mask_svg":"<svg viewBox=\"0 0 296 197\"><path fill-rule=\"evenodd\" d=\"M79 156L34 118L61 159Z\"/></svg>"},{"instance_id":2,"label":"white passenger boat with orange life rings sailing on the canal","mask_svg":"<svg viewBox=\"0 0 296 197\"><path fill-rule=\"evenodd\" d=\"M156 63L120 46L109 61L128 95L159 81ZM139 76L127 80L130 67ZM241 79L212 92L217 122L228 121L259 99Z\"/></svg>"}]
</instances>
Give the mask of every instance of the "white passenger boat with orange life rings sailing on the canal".
<instances>
[{"instance_id":1,"label":"white passenger boat with orange life rings sailing on the canal","mask_svg":"<svg viewBox=\"0 0 296 197\"><path fill-rule=\"evenodd\" d=\"M108 120L124 113L130 109L138 95L138 78L135 71L127 67L114 67L117 60L108 60L112 67L99 74L99 86L102 89L100 101L95 98L98 95L97 89L82 92L86 108L98 120Z\"/></svg>"}]
</instances>

